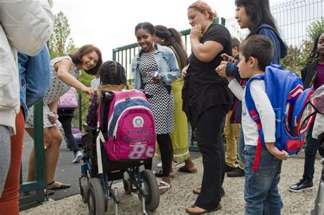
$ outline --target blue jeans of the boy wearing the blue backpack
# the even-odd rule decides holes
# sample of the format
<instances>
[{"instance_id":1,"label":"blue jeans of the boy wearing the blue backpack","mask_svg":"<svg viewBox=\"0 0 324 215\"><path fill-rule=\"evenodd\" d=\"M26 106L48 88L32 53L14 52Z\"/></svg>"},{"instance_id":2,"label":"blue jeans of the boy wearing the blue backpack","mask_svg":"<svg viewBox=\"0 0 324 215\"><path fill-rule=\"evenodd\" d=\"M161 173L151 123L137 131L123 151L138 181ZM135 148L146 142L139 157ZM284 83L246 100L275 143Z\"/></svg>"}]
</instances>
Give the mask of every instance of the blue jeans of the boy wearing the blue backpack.
<instances>
[{"instance_id":1,"label":"blue jeans of the boy wearing the blue backpack","mask_svg":"<svg viewBox=\"0 0 324 215\"><path fill-rule=\"evenodd\" d=\"M283 206L278 184L282 160L275 158L262 148L258 171L252 169L256 157L256 146L245 145L245 214L280 214Z\"/></svg>"}]
</instances>

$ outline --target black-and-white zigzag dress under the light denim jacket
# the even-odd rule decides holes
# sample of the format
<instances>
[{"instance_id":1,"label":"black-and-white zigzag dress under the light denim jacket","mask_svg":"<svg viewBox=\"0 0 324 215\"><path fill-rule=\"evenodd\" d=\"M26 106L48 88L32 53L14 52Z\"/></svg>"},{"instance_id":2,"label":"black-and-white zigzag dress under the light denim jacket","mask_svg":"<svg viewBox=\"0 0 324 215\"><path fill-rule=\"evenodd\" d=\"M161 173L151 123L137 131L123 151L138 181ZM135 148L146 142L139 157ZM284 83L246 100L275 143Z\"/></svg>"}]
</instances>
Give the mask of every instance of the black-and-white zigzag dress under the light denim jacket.
<instances>
[{"instance_id":1,"label":"black-and-white zigzag dress under the light denim jacket","mask_svg":"<svg viewBox=\"0 0 324 215\"><path fill-rule=\"evenodd\" d=\"M148 101L154 115L157 134L168 134L174 130L174 96L172 89L167 90L163 83L153 84L153 71L157 71L154 52L142 53L139 59L139 72L144 83L144 91L152 94Z\"/></svg>"}]
</instances>

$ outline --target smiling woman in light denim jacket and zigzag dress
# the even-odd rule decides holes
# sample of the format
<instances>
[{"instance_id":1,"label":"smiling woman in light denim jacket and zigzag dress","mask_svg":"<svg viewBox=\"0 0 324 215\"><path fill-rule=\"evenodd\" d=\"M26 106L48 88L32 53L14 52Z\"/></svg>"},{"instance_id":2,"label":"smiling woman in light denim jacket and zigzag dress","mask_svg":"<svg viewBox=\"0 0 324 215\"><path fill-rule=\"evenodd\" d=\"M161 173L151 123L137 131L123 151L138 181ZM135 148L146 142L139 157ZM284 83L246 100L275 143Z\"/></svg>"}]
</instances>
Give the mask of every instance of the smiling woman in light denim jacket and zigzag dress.
<instances>
[{"instance_id":1,"label":"smiling woman in light denim jacket and zigzag dress","mask_svg":"<svg viewBox=\"0 0 324 215\"><path fill-rule=\"evenodd\" d=\"M180 70L173 51L154 44L155 27L151 23L139 23L135 27L137 43L141 50L132 61L135 89L152 94L149 98L154 114L157 143L163 165L160 194L171 187L170 167L172 145L169 134L174 130L174 96L171 82L180 77Z\"/></svg>"}]
</instances>

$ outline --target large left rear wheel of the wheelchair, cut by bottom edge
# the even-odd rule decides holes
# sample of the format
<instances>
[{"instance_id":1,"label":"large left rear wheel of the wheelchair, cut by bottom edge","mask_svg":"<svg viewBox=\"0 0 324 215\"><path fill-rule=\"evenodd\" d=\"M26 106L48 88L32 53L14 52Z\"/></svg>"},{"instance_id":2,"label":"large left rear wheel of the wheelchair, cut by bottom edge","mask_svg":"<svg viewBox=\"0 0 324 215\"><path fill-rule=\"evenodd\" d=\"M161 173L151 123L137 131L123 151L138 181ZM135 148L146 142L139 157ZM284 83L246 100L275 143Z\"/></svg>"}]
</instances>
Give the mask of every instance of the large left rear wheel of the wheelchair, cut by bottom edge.
<instances>
[{"instance_id":1,"label":"large left rear wheel of the wheelchair, cut by bottom edge","mask_svg":"<svg viewBox=\"0 0 324 215\"><path fill-rule=\"evenodd\" d=\"M87 207L91 215L105 214L105 194L100 180L96 177L90 178L87 195Z\"/></svg>"}]
</instances>

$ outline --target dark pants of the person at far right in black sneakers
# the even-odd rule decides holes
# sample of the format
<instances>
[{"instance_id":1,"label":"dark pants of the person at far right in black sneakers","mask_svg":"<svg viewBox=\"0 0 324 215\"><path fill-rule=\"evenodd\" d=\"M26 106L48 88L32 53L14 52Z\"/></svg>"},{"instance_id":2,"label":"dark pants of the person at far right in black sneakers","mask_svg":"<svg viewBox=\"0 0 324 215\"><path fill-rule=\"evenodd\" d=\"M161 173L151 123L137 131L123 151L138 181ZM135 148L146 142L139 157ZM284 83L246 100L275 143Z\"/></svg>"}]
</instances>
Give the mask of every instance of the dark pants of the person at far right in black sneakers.
<instances>
[{"instance_id":1,"label":"dark pants of the person at far right in black sneakers","mask_svg":"<svg viewBox=\"0 0 324 215\"><path fill-rule=\"evenodd\" d=\"M303 178L306 180L314 178L316 152L319 149L319 141L312 138L313 126L314 124L308 129L306 137L305 164L303 166Z\"/></svg>"}]
</instances>

